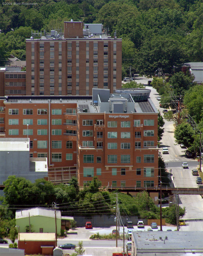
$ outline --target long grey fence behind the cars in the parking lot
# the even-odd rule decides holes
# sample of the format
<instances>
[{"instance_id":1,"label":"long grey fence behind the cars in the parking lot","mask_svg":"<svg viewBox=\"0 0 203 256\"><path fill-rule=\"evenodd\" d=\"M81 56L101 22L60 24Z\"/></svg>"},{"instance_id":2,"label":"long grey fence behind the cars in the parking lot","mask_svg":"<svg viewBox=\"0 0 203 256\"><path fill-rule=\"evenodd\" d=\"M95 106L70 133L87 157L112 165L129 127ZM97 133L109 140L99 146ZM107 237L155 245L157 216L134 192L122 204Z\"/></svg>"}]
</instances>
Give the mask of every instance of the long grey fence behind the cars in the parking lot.
<instances>
[{"instance_id":1,"label":"long grey fence behind the cars in the parking lot","mask_svg":"<svg viewBox=\"0 0 203 256\"><path fill-rule=\"evenodd\" d=\"M93 227L102 227L102 226L115 226L115 215L101 214L94 216L81 216L75 215L73 216L74 220L77 222L77 227L84 227L86 221L91 221ZM126 226L126 221L132 221L133 225L137 225L137 217L136 216L121 216L122 223ZM142 220L144 225L147 225L147 220Z\"/></svg>"}]
</instances>

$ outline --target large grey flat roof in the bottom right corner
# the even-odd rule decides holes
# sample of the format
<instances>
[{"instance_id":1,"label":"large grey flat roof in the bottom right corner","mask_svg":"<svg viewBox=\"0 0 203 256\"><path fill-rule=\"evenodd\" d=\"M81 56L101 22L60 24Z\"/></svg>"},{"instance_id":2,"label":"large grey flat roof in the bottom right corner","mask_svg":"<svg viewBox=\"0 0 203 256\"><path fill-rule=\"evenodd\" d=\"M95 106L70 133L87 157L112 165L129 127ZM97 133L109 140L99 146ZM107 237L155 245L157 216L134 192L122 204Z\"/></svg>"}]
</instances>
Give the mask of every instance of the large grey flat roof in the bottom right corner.
<instances>
[{"instance_id":1,"label":"large grey flat roof in the bottom right corner","mask_svg":"<svg viewBox=\"0 0 203 256\"><path fill-rule=\"evenodd\" d=\"M139 231L132 232L132 234L137 252L140 253L158 253L159 250L171 253L179 250L201 250L203 252L203 231Z\"/></svg>"}]
</instances>

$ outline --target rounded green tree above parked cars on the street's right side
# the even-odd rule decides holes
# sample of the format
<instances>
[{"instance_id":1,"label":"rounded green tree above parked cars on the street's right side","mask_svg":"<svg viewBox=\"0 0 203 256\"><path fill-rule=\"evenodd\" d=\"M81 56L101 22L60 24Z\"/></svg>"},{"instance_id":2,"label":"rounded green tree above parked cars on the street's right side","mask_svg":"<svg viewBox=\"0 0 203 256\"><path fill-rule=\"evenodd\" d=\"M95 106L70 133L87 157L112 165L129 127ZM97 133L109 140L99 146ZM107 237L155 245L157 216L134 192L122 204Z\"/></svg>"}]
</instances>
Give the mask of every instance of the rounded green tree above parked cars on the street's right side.
<instances>
[{"instance_id":1,"label":"rounded green tree above parked cars on the street's right side","mask_svg":"<svg viewBox=\"0 0 203 256\"><path fill-rule=\"evenodd\" d=\"M183 144L186 147L190 147L194 141L194 130L191 125L182 122L175 128L174 137L178 144Z\"/></svg>"}]
</instances>

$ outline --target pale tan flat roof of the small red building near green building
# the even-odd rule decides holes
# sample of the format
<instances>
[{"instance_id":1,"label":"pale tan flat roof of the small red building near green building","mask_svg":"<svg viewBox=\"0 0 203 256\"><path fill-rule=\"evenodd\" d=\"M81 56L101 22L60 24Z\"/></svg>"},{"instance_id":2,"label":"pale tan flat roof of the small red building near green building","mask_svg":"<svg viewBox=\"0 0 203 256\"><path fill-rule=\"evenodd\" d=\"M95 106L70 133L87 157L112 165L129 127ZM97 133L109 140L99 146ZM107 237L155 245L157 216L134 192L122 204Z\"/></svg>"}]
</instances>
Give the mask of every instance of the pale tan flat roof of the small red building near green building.
<instances>
[{"instance_id":1,"label":"pale tan flat roof of the small red building near green building","mask_svg":"<svg viewBox=\"0 0 203 256\"><path fill-rule=\"evenodd\" d=\"M20 241L55 241L55 233L20 233Z\"/></svg>"}]
</instances>

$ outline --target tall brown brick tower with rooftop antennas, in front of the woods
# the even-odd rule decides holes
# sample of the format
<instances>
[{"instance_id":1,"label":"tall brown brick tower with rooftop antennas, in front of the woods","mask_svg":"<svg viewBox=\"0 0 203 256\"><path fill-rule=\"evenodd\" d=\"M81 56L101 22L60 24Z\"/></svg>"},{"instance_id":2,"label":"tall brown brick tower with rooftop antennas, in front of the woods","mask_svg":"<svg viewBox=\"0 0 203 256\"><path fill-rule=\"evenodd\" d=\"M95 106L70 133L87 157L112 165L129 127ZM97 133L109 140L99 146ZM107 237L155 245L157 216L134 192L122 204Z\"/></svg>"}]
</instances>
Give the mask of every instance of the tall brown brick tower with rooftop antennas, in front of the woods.
<instances>
[{"instance_id":1,"label":"tall brown brick tower with rooftop antennas, in front of the woods","mask_svg":"<svg viewBox=\"0 0 203 256\"><path fill-rule=\"evenodd\" d=\"M26 95L91 95L92 88L113 93L121 86L122 39L101 33L102 24L91 24L91 35L83 25L64 22L64 36L52 31L26 39Z\"/></svg>"}]
</instances>

